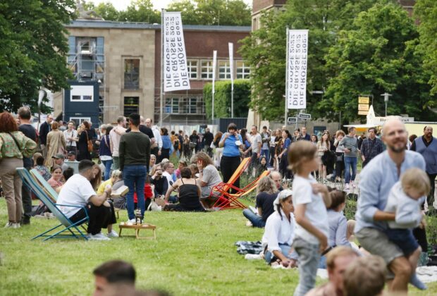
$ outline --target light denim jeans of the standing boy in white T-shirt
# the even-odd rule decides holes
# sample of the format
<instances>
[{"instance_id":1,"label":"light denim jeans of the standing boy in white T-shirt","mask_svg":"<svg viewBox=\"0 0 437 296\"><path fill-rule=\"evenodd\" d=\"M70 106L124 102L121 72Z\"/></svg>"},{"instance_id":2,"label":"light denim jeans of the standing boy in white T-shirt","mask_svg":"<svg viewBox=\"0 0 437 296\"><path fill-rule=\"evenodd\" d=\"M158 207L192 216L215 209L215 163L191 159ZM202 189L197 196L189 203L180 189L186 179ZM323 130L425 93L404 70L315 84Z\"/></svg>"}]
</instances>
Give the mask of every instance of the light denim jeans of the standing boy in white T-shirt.
<instances>
[{"instance_id":1,"label":"light denim jeans of the standing boy in white T-shirt","mask_svg":"<svg viewBox=\"0 0 437 296\"><path fill-rule=\"evenodd\" d=\"M312 244L302 238L295 238L293 247L299 255L299 285L294 296L304 296L314 288L316 283L317 267L319 267L319 244Z\"/></svg>"}]
</instances>

